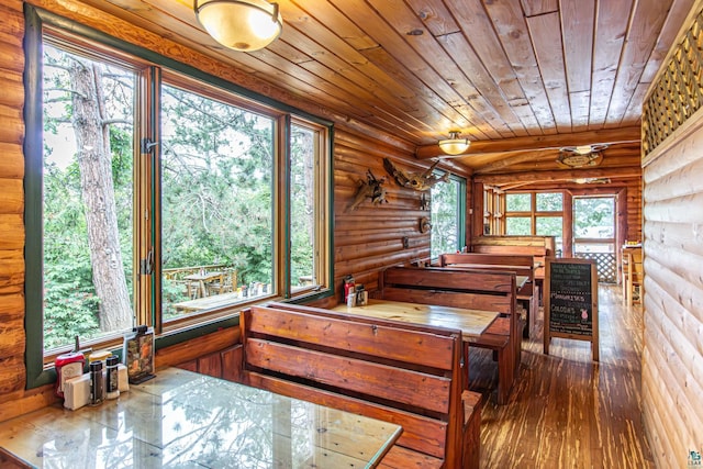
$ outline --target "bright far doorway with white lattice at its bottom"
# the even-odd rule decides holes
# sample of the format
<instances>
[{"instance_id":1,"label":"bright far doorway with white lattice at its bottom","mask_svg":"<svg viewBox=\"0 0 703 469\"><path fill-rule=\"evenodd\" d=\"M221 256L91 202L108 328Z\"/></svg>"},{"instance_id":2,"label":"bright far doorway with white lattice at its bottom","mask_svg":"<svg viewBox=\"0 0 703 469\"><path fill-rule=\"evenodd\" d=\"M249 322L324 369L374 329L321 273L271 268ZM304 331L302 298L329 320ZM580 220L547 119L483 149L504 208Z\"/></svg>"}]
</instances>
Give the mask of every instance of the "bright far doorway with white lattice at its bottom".
<instances>
[{"instance_id":1,"label":"bright far doorway with white lattice at its bottom","mask_svg":"<svg viewBox=\"0 0 703 469\"><path fill-rule=\"evenodd\" d=\"M595 259L599 281L617 281L615 196L573 198L573 255Z\"/></svg>"}]
</instances>

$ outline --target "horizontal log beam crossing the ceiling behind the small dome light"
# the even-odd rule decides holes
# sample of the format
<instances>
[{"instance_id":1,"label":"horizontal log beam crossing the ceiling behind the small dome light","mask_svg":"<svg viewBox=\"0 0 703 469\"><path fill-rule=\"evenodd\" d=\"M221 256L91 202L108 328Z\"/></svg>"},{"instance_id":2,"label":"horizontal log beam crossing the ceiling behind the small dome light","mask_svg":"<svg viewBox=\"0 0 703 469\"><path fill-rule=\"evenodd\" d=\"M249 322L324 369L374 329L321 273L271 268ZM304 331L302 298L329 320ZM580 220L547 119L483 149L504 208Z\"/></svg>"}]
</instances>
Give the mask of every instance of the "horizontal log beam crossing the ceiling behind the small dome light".
<instances>
[{"instance_id":1,"label":"horizontal log beam crossing the ceiling behind the small dome light","mask_svg":"<svg viewBox=\"0 0 703 469\"><path fill-rule=\"evenodd\" d=\"M573 134L523 136L502 138L494 141L471 142L471 146L461 155L446 155L439 150L438 145L423 145L415 150L417 159L429 158L457 158L466 155L503 154L512 152L534 152L544 149L558 149L562 146L620 144L641 142L641 129L639 126L623 129L604 129L601 131L578 132Z\"/></svg>"}]
</instances>

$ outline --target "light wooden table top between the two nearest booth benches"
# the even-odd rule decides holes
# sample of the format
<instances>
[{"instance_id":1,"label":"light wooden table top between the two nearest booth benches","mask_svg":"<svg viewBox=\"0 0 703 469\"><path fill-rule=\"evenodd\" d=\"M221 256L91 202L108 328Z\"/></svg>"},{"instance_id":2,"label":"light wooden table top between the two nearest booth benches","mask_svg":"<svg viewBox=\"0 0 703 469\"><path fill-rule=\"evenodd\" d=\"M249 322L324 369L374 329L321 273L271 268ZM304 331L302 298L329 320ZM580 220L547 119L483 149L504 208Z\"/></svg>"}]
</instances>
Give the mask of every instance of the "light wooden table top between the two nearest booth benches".
<instances>
[{"instance_id":1,"label":"light wooden table top between the two nearest booth benches","mask_svg":"<svg viewBox=\"0 0 703 469\"><path fill-rule=\"evenodd\" d=\"M365 306L339 304L334 311L403 321L438 327L458 328L465 340L480 336L498 317L498 312L469 310L465 308L439 306L433 304L405 303L402 301L369 300Z\"/></svg>"}]
</instances>

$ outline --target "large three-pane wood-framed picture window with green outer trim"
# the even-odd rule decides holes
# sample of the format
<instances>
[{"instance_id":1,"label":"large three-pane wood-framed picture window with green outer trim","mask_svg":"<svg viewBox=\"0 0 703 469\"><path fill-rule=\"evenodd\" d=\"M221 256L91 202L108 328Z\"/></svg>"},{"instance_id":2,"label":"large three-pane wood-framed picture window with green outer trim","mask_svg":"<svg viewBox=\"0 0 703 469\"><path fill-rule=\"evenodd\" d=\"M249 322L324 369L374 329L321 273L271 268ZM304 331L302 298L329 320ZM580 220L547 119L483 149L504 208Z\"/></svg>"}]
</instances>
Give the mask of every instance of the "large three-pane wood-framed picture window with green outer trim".
<instances>
[{"instance_id":1,"label":"large three-pane wood-framed picture window with green outer trim","mask_svg":"<svg viewBox=\"0 0 703 469\"><path fill-rule=\"evenodd\" d=\"M172 335L331 294L327 122L94 32L32 24L30 386L76 337L110 346L136 324Z\"/></svg>"}]
</instances>

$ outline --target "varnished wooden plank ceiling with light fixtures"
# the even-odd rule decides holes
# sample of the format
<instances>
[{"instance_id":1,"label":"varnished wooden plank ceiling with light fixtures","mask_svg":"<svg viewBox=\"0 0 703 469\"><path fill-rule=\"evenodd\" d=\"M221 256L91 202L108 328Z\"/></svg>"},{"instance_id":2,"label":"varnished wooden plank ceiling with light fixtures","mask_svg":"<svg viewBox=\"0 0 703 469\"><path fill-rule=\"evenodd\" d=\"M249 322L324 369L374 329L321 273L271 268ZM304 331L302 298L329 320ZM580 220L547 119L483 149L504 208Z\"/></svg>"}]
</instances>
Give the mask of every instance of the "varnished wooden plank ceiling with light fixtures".
<instances>
[{"instance_id":1,"label":"varnished wooden plank ceiling with light fixtures","mask_svg":"<svg viewBox=\"0 0 703 469\"><path fill-rule=\"evenodd\" d=\"M472 145L453 164L502 181L578 176L556 159L585 144L609 144L603 176L636 177L644 94L696 0L280 0L281 37L253 53L215 43L190 0L83 2L420 159L460 131Z\"/></svg>"}]
</instances>

